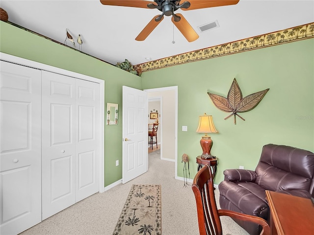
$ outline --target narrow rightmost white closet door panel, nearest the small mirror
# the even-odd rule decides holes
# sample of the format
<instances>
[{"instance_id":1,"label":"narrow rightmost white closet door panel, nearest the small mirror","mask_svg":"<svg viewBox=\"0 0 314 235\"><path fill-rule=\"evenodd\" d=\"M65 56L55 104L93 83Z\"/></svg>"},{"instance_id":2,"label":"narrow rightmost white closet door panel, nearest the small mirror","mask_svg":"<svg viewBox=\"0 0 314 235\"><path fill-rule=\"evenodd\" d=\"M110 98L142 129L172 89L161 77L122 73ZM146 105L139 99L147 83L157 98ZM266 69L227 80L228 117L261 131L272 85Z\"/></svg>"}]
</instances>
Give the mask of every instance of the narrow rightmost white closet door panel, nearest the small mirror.
<instances>
[{"instance_id":1,"label":"narrow rightmost white closet door panel, nearest the small mirror","mask_svg":"<svg viewBox=\"0 0 314 235\"><path fill-rule=\"evenodd\" d=\"M76 202L99 191L99 84L76 79Z\"/></svg>"}]
</instances>

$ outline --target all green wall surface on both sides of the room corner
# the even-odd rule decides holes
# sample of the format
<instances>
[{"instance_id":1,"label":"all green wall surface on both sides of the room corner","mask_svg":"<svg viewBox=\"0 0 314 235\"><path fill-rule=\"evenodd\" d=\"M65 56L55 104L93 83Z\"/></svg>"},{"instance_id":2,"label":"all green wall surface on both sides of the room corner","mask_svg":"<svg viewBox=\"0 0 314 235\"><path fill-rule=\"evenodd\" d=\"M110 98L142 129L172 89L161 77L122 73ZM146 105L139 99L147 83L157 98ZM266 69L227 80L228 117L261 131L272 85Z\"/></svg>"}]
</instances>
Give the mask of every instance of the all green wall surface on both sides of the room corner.
<instances>
[{"instance_id":1,"label":"all green wall surface on both sides of the room corner","mask_svg":"<svg viewBox=\"0 0 314 235\"><path fill-rule=\"evenodd\" d=\"M314 152L314 39L256 49L142 73L142 78L53 43L13 25L0 22L0 51L105 80L105 103L119 104L118 125L105 125L105 186L122 178L122 86L151 89L178 86L178 176L183 177L181 156L190 158L191 178L195 157L202 152L195 132L198 116L213 116L219 133L211 134L211 153L218 157L215 183L223 170L254 169L267 143L286 144ZM105 53L105 51L104 51ZM224 120L229 113L218 110L207 92L227 96L236 78L243 97L266 88L260 104L246 120ZM181 126L188 131L182 132ZM172 177L172 176L169 176Z\"/></svg>"}]
</instances>

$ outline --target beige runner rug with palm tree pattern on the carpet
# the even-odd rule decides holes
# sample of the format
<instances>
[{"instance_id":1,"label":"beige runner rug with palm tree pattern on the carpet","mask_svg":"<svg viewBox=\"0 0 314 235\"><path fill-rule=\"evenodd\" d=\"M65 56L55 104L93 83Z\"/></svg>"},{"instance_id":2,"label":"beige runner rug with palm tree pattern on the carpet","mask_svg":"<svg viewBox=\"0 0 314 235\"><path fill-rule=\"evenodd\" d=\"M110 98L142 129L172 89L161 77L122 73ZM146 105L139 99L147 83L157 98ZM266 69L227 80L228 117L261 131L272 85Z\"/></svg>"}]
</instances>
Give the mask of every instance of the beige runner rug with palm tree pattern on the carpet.
<instances>
[{"instance_id":1,"label":"beige runner rug with palm tree pattern on the carpet","mask_svg":"<svg viewBox=\"0 0 314 235\"><path fill-rule=\"evenodd\" d=\"M161 235L161 185L132 185L113 235Z\"/></svg>"}]
</instances>

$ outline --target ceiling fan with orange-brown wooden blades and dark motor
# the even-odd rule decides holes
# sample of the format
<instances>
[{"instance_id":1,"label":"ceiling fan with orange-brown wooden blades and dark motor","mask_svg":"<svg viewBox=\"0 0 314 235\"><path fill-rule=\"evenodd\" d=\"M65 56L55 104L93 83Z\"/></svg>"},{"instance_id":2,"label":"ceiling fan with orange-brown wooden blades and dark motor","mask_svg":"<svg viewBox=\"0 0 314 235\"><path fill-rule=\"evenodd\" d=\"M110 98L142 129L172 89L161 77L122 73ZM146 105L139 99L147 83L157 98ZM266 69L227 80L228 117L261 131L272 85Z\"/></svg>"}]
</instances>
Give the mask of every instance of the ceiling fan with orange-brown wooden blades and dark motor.
<instances>
[{"instance_id":1,"label":"ceiling fan with orange-brown wooden blades and dark motor","mask_svg":"<svg viewBox=\"0 0 314 235\"><path fill-rule=\"evenodd\" d=\"M155 16L138 34L136 41L144 41L148 35L157 27L163 20L163 16L171 16L171 21L180 30L188 42L193 42L199 38L198 34L192 26L185 20L182 14L175 14L178 9L183 11L195 10L201 8L234 5L239 0L100 0L104 5L113 6L130 6L149 9L158 9L161 15Z\"/></svg>"}]
</instances>

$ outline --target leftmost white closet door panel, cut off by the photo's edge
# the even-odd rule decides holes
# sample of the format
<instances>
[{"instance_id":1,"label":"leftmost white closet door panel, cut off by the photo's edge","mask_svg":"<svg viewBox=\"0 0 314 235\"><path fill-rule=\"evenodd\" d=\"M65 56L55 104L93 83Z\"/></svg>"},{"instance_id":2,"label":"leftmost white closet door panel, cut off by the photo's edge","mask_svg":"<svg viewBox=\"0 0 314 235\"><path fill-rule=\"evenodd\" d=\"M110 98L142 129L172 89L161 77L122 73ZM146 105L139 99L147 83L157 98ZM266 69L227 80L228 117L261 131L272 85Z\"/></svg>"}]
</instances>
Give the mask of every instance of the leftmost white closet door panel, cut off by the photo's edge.
<instances>
[{"instance_id":1,"label":"leftmost white closet door panel, cut off by the photo's edge","mask_svg":"<svg viewBox=\"0 0 314 235\"><path fill-rule=\"evenodd\" d=\"M41 71L1 61L0 231L41 222Z\"/></svg>"}]
</instances>

